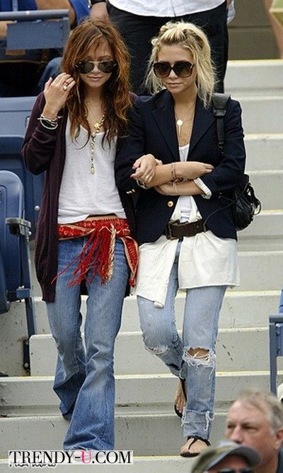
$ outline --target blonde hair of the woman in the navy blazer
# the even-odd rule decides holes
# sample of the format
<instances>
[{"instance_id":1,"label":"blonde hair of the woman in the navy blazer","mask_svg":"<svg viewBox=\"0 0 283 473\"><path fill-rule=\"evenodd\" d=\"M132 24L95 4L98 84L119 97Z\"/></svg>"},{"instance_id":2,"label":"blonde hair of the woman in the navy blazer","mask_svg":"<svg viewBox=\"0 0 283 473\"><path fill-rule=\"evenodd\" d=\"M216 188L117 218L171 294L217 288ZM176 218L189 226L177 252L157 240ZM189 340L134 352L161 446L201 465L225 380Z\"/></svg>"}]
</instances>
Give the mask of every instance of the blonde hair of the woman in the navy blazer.
<instances>
[{"instance_id":1,"label":"blonde hair of the woman in the navy blazer","mask_svg":"<svg viewBox=\"0 0 283 473\"><path fill-rule=\"evenodd\" d=\"M163 88L160 78L154 75L152 66L158 61L158 53L163 46L181 46L192 54L192 59L197 71L198 95L207 107L212 100L214 92L215 74L212 64L211 52L207 35L193 23L183 21L169 21L161 27L158 36L151 40L152 52L149 59L146 86L153 93Z\"/></svg>"}]
</instances>

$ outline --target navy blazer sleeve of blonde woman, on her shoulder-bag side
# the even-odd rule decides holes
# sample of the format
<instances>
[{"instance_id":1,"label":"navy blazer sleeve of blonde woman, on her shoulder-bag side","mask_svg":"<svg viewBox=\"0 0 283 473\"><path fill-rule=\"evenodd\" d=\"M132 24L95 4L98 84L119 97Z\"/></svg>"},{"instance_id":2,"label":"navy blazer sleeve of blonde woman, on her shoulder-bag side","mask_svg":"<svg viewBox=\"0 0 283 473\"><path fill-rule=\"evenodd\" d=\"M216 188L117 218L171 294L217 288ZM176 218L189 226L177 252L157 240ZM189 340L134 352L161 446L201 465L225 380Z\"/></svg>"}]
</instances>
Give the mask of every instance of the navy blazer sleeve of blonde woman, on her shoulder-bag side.
<instances>
[{"instance_id":1,"label":"navy blazer sleeve of blonde woman, on her shoulder-bag side","mask_svg":"<svg viewBox=\"0 0 283 473\"><path fill-rule=\"evenodd\" d=\"M241 106L230 100L224 117L224 147L219 165L211 173L201 177L202 182L214 194L234 189L243 177L246 165L246 151L243 141Z\"/></svg>"}]
</instances>

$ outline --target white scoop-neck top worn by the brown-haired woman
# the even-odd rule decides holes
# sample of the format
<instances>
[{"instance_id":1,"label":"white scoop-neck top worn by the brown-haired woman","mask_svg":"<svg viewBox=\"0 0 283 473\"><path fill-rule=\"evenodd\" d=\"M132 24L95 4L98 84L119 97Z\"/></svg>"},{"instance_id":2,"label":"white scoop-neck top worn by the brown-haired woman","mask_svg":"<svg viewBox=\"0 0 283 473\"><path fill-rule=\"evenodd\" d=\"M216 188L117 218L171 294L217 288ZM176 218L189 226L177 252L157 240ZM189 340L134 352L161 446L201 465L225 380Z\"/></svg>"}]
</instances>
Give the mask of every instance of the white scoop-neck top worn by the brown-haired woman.
<instances>
[{"instance_id":1,"label":"white scoop-neck top worn by the brown-haired woman","mask_svg":"<svg viewBox=\"0 0 283 473\"><path fill-rule=\"evenodd\" d=\"M96 134L91 174L91 145L86 129L81 127L76 142L69 134L69 119L66 129L66 160L59 192L58 223L74 223L89 215L115 214L126 218L114 175L116 140L105 140L103 132ZM86 146L84 146L86 144Z\"/></svg>"}]
</instances>

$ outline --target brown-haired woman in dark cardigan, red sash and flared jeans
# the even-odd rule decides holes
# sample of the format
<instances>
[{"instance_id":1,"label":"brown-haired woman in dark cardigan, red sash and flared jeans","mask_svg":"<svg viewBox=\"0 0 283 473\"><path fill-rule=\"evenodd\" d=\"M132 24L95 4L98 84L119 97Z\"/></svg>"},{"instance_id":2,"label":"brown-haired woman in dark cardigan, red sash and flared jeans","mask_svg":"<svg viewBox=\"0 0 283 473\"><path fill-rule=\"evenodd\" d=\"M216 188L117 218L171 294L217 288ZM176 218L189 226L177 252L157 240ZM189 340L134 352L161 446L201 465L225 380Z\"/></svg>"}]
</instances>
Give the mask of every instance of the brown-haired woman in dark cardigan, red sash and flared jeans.
<instances>
[{"instance_id":1,"label":"brown-haired woman in dark cardigan, red sash and flared jeans","mask_svg":"<svg viewBox=\"0 0 283 473\"><path fill-rule=\"evenodd\" d=\"M54 391L71 421L64 448L112 450L113 350L137 266L132 207L114 178L131 105L127 50L112 25L87 20L67 42L62 71L38 96L23 143L28 170L46 172L35 265L57 344Z\"/></svg>"}]
</instances>

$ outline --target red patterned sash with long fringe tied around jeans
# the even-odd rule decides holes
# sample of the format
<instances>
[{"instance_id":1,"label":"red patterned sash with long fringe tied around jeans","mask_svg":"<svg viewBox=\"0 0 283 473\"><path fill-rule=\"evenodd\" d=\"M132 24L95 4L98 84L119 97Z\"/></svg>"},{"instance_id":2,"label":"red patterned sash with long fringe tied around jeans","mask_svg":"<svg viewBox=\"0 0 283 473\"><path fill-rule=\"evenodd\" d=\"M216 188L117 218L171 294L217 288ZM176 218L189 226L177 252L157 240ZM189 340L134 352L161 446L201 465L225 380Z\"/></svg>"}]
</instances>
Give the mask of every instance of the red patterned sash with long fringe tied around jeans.
<instances>
[{"instance_id":1,"label":"red patterned sash with long fringe tied around jeans","mask_svg":"<svg viewBox=\"0 0 283 473\"><path fill-rule=\"evenodd\" d=\"M116 216L88 217L84 221L76 223L60 224L57 227L59 240L79 238L88 236L80 255L71 261L60 274L79 260L69 286L79 284L83 279L87 282L93 281L99 274L101 282L104 283L111 278L114 267L115 240L120 238L124 243L125 256L130 269L129 284L134 286L137 274L138 246L137 242L130 236L129 224L126 218ZM86 276L88 274L88 276Z\"/></svg>"}]
</instances>

